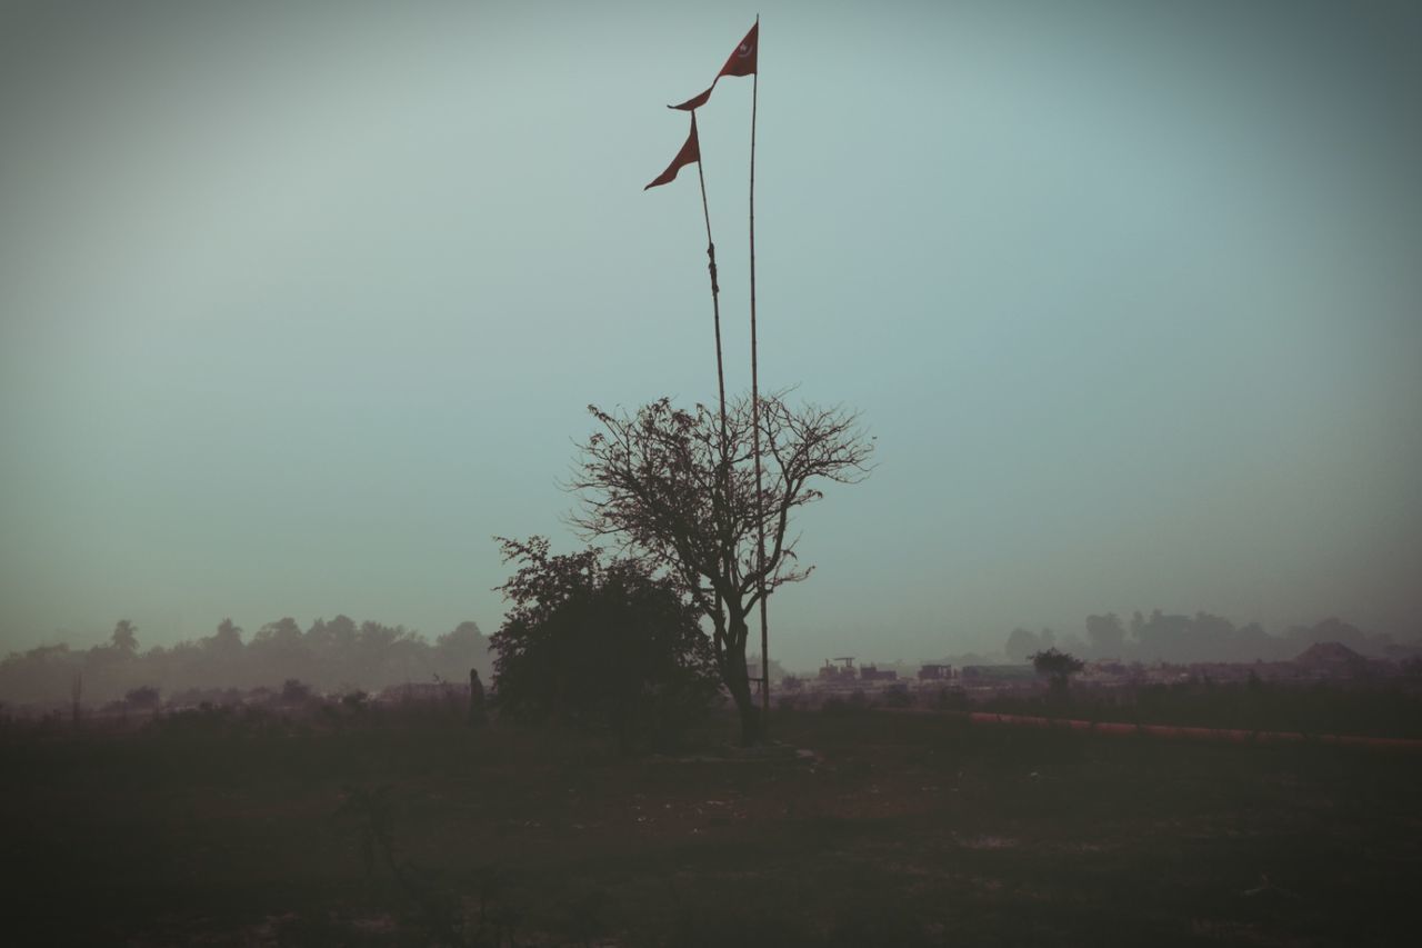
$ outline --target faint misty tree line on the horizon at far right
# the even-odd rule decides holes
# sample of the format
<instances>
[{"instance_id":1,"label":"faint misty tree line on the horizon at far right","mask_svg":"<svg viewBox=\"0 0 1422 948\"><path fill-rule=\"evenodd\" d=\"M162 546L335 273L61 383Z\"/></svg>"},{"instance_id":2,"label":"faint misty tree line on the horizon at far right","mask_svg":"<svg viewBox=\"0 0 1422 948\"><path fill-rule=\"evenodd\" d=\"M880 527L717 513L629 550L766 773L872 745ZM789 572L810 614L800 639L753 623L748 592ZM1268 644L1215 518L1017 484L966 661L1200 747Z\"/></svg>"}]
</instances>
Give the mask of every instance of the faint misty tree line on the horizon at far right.
<instances>
[{"instance_id":1,"label":"faint misty tree line on the horizon at far right","mask_svg":"<svg viewBox=\"0 0 1422 948\"><path fill-rule=\"evenodd\" d=\"M1122 622L1115 612L1086 616L1085 638L1068 633L1058 638L1052 629L1032 632L1012 629L1005 652L1014 662L1031 655L1062 649L1091 659L1139 662L1283 662L1318 642L1341 642L1359 655L1404 659L1416 653L1416 645L1399 645L1389 635L1369 635L1338 618L1311 626L1297 625L1281 636L1270 635L1258 622L1234 625L1209 612L1166 615L1155 609L1149 616L1135 612Z\"/></svg>"}]
</instances>

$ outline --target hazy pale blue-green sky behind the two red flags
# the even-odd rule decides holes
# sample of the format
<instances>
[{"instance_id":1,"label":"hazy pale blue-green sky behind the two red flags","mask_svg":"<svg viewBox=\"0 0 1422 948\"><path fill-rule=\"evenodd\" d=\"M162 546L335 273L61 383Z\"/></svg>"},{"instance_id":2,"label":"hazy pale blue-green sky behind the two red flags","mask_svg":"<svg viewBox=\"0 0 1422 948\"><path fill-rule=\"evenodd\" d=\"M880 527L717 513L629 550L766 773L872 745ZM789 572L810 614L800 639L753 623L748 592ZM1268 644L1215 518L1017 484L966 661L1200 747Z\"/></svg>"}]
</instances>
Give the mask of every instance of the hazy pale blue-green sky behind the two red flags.
<instances>
[{"instance_id":1,"label":"hazy pale blue-green sky behind the two red flags","mask_svg":"<svg viewBox=\"0 0 1422 948\"><path fill-rule=\"evenodd\" d=\"M772 655L1422 628L1422 6L761 0L766 387L879 468ZM0 0L0 649L486 632L587 403L715 396L725 3ZM748 386L751 80L700 114Z\"/></svg>"}]
</instances>

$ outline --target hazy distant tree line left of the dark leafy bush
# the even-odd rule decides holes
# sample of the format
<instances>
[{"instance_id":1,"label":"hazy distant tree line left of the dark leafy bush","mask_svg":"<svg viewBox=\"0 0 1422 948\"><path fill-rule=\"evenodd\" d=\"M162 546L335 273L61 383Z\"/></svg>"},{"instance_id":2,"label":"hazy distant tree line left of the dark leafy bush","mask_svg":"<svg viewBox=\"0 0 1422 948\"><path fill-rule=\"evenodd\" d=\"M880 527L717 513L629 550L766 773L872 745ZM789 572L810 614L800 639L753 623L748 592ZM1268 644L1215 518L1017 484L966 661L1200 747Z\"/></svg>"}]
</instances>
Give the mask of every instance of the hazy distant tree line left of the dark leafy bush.
<instances>
[{"instance_id":1,"label":"hazy distant tree line left of the dark leafy bush","mask_svg":"<svg viewBox=\"0 0 1422 948\"><path fill-rule=\"evenodd\" d=\"M304 632L296 619L267 622L250 639L232 619L198 641L139 649L138 626L121 619L104 645L71 649L44 645L11 652L0 662L0 700L13 705L108 702L152 689L165 697L186 689L273 688L297 679L316 692L377 690L405 682L468 682L469 669L488 676L488 639L474 622L429 642L402 625L350 616L317 619Z\"/></svg>"}]
</instances>

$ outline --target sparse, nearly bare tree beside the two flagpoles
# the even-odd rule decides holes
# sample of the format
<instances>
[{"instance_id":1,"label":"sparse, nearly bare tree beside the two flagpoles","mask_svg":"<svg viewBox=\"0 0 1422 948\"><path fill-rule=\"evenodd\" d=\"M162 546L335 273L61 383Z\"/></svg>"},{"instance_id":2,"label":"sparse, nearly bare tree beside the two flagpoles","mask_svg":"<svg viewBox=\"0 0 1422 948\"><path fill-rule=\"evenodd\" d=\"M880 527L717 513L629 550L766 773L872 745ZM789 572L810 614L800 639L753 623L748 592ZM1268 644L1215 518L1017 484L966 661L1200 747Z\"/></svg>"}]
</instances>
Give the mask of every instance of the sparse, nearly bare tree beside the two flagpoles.
<instances>
[{"instance_id":1,"label":"sparse, nearly bare tree beside the two flagpoles","mask_svg":"<svg viewBox=\"0 0 1422 948\"><path fill-rule=\"evenodd\" d=\"M749 397L718 411L661 399L636 414L589 406L602 426L566 484L582 501L570 518L586 538L613 538L664 564L697 609L711 619L717 669L741 716L741 740L755 743L762 722L745 668L748 618L761 598L809 576L791 534L792 512L823 494L811 484L853 484L869 474L873 438L857 414L839 407L793 409L784 393L761 396L764 491L757 511ZM764 571L757 528L764 525ZM762 582L764 581L764 582Z\"/></svg>"}]
</instances>

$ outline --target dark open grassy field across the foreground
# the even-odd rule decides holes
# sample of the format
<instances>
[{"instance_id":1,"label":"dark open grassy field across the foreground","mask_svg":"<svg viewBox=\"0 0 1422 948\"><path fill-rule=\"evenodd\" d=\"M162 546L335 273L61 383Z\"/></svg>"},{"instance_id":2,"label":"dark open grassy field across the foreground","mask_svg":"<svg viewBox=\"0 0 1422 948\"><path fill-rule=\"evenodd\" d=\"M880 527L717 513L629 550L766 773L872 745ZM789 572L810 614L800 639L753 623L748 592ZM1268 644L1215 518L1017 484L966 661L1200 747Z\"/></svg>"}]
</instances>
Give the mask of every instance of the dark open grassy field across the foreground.
<instances>
[{"instance_id":1,"label":"dark open grassy field across the foreground","mask_svg":"<svg viewBox=\"0 0 1422 948\"><path fill-rule=\"evenodd\" d=\"M10 944L1412 941L1422 754L856 709L772 730L675 759L441 707L11 730Z\"/></svg>"}]
</instances>

